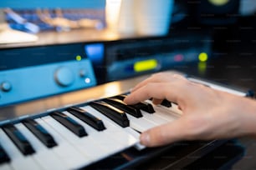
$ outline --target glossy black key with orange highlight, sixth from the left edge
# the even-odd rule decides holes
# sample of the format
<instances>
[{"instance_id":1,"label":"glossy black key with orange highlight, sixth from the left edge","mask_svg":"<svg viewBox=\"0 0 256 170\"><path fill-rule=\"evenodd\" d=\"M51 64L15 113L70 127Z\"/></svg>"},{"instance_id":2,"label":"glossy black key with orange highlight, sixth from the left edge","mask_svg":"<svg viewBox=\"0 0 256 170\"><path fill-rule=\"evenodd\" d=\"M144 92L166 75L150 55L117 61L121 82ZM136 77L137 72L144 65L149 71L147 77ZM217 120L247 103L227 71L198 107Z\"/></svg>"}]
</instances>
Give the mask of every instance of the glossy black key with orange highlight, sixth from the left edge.
<instances>
[{"instance_id":1,"label":"glossy black key with orange highlight, sixth from the left edge","mask_svg":"<svg viewBox=\"0 0 256 170\"><path fill-rule=\"evenodd\" d=\"M94 107L97 111L101 112L106 117L109 117L121 127L129 127L130 122L125 112L121 111L120 109L113 107L106 102L90 102L90 106Z\"/></svg>"}]
</instances>

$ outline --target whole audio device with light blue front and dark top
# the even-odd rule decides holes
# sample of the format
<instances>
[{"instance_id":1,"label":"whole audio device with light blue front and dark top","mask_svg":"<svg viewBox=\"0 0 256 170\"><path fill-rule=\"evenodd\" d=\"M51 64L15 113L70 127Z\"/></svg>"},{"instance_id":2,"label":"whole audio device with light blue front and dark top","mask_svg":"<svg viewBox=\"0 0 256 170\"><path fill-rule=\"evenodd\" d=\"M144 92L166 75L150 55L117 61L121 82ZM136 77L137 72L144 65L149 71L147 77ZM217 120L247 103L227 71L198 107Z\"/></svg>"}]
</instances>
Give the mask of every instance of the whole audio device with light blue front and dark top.
<instances>
[{"instance_id":1,"label":"whole audio device with light blue front and dark top","mask_svg":"<svg viewBox=\"0 0 256 170\"><path fill-rule=\"evenodd\" d=\"M0 50L0 106L96 84L83 43Z\"/></svg>"}]
</instances>

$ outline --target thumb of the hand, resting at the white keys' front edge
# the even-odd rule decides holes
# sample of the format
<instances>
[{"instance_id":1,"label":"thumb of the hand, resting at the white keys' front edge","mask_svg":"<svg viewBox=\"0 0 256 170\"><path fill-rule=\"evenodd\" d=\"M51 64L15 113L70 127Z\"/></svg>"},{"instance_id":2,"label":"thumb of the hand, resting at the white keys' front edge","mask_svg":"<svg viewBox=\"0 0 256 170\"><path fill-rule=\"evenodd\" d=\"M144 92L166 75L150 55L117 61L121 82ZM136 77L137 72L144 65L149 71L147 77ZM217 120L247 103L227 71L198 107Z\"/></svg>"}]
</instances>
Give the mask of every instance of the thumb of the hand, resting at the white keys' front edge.
<instances>
[{"instance_id":1,"label":"thumb of the hand, resting at the white keys' front edge","mask_svg":"<svg viewBox=\"0 0 256 170\"><path fill-rule=\"evenodd\" d=\"M141 133L141 144L157 147L181 140L209 139L212 126L208 117L184 116ZM214 136L211 136L214 138Z\"/></svg>"}]
</instances>

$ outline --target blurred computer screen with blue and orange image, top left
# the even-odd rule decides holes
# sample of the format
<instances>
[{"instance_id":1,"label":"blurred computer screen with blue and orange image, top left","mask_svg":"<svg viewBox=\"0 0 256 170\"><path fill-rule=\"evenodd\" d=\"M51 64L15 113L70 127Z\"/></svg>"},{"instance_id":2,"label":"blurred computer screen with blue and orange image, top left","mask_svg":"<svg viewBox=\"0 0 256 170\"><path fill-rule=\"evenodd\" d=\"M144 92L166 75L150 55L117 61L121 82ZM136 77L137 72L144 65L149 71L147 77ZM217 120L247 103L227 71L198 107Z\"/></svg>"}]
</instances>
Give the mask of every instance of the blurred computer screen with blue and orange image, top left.
<instances>
[{"instance_id":1,"label":"blurred computer screen with blue and orange image, top left","mask_svg":"<svg viewBox=\"0 0 256 170\"><path fill-rule=\"evenodd\" d=\"M86 24L86 27L88 27L88 24L91 23L92 28L105 28L105 0L64 0L61 2L53 2L50 0L24 0L23 2L19 2L15 0L9 0L0 3L0 11L0 23L5 23L5 26L7 26L8 23L9 26L9 28L5 27L4 34L1 32L0 38L2 40L0 43L13 42L13 40L17 42L17 38L8 38L10 36L9 32L13 30L35 34L49 30L65 31L72 29L69 27L58 27L59 25L56 26L56 24L49 24L45 22L44 19L42 19L44 16L49 16L51 21L54 20L54 18L59 18L58 12L61 13L61 18L64 18L63 20L65 21L69 21L69 23L82 20L79 22L79 27L84 26L80 23ZM42 13L42 15L39 15L38 12ZM85 23L84 19L93 20L95 23ZM54 21L57 21L57 19ZM60 20L58 21L60 23ZM3 27L1 28L3 29ZM7 29L8 32L6 32ZM23 42L23 40L29 42L37 40L35 36L29 36L25 34L21 35L22 32L12 32L12 35L14 35L14 33L19 33L18 36L15 36L21 37L21 41L19 40L18 42Z\"/></svg>"}]
</instances>

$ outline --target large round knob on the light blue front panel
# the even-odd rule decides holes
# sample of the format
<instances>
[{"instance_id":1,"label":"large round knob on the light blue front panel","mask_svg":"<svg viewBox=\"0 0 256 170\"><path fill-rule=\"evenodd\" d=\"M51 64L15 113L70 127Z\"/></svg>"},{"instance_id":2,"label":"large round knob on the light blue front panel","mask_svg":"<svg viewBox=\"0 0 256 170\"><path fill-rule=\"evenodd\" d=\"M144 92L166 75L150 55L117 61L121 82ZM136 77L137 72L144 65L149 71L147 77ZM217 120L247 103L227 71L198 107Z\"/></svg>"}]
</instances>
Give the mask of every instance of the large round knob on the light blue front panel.
<instances>
[{"instance_id":1,"label":"large round knob on the light blue front panel","mask_svg":"<svg viewBox=\"0 0 256 170\"><path fill-rule=\"evenodd\" d=\"M74 82L74 73L68 67L59 67L54 78L60 86L68 87Z\"/></svg>"}]
</instances>

